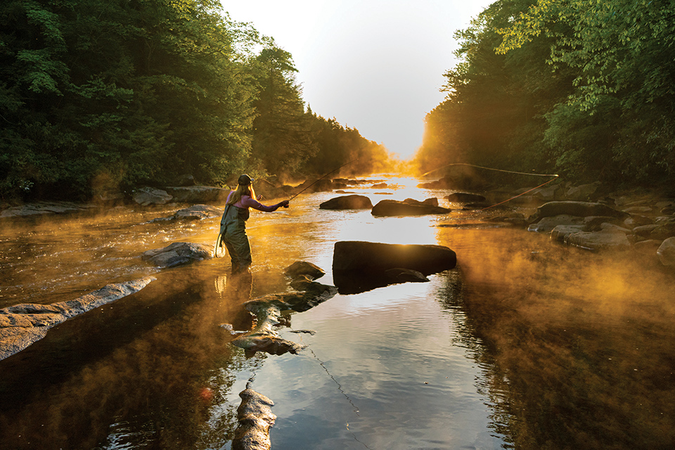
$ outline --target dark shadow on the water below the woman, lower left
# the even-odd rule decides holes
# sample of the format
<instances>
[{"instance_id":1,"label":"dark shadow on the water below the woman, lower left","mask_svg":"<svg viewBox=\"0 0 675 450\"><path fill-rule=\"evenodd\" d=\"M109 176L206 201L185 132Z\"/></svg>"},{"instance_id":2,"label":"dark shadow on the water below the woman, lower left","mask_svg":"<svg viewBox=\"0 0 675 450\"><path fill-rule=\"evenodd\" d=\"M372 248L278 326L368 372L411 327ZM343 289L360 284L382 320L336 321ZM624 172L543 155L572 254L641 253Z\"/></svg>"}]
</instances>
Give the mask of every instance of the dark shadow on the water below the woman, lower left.
<instances>
[{"instance_id":1,"label":"dark shadow on the water below the woman, lower left","mask_svg":"<svg viewBox=\"0 0 675 450\"><path fill-rule=\"evenodd\" d=\"M214 395L208 374L250 364L219 325L246 330L252 323L241 306L250 300L250 278L205 281L198 270L162 272L139 293L0 361L2 448L194 446ZM236 423L236 411L229 417Z\"/></svg>"}]
</instances>

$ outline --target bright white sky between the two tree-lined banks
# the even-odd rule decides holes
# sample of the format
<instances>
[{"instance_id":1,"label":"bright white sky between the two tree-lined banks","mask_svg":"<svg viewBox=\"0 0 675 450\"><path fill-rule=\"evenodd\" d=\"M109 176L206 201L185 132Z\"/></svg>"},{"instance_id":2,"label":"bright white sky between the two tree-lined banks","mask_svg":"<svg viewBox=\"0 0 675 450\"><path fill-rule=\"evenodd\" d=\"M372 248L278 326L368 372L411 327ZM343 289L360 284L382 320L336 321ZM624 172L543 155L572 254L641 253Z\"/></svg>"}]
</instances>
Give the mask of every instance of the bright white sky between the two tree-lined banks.
<instances>
[{"instance_id":1,"label":"bright white sky between the two tree-lined banks","mask_svg":"<svg viewBox=\"0 0 675 450\"><path fill-rule=\"evenodd\" d=\"M293 55L302 97L361 136L410 158L443 101L453 33L494 0L222 0L238 22Z\"/></svg>"}]
</instances>

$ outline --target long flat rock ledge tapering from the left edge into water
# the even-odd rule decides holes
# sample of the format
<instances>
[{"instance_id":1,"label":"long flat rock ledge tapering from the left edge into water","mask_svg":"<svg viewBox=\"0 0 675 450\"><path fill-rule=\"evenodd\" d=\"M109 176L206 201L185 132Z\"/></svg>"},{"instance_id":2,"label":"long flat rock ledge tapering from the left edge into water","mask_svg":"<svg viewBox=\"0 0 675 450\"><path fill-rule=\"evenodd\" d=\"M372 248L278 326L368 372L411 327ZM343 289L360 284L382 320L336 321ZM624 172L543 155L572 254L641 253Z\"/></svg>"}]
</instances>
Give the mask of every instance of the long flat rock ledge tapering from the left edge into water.
<instances>
[{"instance_id":1,"label":"long flat rock ledge tapering from the left edge into water","mask_svg":"<svg viewBox=\"0 0 675 450\"><path fill-rule=\"evenodd\" d=\"M0 360L44 338L49 328L103 304L138 292L156 278L146 276L103 286L75 300L52 304L16 304L0 309Z\"/></svg>"}]
</instances>

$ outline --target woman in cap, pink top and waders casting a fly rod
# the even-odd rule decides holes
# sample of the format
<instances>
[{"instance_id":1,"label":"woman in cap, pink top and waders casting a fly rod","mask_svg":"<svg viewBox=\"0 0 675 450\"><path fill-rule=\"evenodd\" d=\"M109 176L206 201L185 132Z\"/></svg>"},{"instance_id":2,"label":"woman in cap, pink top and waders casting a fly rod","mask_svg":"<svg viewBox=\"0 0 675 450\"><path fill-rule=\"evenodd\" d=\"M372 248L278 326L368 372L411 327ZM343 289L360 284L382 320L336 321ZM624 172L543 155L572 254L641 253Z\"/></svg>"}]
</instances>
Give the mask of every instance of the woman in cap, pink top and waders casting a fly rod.
<instances>
[{"instance_id":1,"label":"woman in cap, pink top and waders casting a fly rod","mask_svg":"<svg viewBox=\"0 0 675 450\"><path fill-rule=\"evenodd\" d=\"M216 241L216 250L225 245L232 259L232 273L236 274L248 270L252 264L251 245L246 236L246 221L249 217L249 208L263 212L272 212L279 207L288 207L288 200L272 206L265 206L255 200L253 179L247 174L239 177L238 186L231 191L225 203L225 212L220 220L220 233Z\"/></svg>"}]
</instances>

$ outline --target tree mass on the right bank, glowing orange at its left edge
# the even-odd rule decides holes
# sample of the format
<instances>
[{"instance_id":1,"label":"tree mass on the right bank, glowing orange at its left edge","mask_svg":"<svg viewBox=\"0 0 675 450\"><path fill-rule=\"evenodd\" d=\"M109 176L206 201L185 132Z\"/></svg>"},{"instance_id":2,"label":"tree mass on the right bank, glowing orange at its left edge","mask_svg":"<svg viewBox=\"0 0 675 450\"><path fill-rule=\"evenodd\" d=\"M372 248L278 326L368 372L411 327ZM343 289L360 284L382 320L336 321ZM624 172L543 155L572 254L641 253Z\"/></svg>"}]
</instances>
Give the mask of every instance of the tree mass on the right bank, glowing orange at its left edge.
<instances>
[{"instance_id":1,"label":"tree mass on the right bank, glowing orange at its left edge","mask_svg":"<svg viewBox=\"0 0 675 450\"><path fill-rule=\"evenodd\" d=\"M675 5L500 0L456 33L423 167L475 162L653 183L675 172Z\"/></svg>"}]
</instances>

